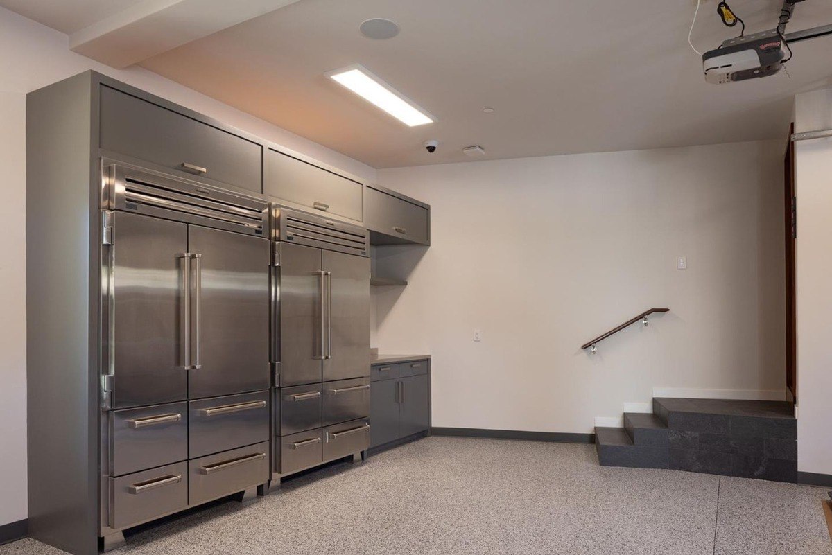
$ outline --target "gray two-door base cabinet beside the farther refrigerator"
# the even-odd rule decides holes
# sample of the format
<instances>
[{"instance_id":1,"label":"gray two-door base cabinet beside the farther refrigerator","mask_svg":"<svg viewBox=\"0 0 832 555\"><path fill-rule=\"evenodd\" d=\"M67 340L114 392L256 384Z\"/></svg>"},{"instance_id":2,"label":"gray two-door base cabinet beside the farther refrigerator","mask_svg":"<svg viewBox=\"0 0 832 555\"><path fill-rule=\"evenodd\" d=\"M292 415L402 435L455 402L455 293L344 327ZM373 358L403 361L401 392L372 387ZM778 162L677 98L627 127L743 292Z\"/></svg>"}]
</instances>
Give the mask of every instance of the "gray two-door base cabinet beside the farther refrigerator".
<instances>
[{"instance_id":1,"label":"gray two-door base cabinet beside the farther refrigerator","mask_svg":"<svg viewBox=\"0 0 832 555\"><path fill-rule=\"evenodd\" d=\"M430 428L429 364L424 360L372 367L371 448Z\"/></svg>"}]
</instances>

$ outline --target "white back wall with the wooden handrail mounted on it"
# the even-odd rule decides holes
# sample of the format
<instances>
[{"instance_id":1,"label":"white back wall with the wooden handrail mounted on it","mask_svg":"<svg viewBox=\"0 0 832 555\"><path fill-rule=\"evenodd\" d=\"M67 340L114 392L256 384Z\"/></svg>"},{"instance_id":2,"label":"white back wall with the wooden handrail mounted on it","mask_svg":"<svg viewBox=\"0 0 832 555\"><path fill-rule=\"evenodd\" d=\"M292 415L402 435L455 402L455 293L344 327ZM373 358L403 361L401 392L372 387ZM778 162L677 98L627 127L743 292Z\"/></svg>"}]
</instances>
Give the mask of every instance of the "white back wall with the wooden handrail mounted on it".
<instances>
[{"instance_id":1,"label":"white back wall with the wooden handrail mounted on it","mask_svg":"<svg viewBox=\"0 0 832 555\"><path fill-rule=\"evenodd\" d=\"M379 248L410 284L374 288L374 344L432 353L436 426L590 432L653 387L783 398L782 150L379 169L432 205L433 235ZM648 307L671 312L580 349Z\"/></svg>"}]
</instances>

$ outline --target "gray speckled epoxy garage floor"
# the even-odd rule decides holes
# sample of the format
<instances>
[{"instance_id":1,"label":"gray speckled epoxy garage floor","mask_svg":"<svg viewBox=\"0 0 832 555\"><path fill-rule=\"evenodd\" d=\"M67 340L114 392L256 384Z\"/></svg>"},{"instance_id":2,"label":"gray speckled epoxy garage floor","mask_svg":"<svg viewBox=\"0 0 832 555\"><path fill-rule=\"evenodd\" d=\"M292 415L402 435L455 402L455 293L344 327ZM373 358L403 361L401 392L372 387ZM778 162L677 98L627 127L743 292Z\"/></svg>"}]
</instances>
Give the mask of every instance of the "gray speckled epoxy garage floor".
<instances>
[{"instance_id":1,"label":"gray speckled epoxy garage floor","mask_svg":"<svg viewBox=\"0 0 832 555\"><path fill-rule=\"evenodd\" d=\"M111 553L832 555L825 495L601 467L592 445L433 437L148 528ZM35 553L63 552L30 539L0 547Z\"/></svg>"}]
</instances>

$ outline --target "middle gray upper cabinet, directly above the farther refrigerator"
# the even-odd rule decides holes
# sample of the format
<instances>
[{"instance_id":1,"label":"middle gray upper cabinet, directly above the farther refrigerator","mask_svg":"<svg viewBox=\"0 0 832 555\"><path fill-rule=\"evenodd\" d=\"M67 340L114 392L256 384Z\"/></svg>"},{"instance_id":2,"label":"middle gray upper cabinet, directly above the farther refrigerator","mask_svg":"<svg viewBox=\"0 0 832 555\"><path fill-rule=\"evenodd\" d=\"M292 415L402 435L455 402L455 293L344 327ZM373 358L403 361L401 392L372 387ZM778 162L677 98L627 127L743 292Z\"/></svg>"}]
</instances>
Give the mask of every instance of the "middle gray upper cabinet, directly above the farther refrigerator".
<instances>
[{"instance_id":1,"label":"middle gray upper cabinet, directly above the farther refrigerator","mask_svg":"<svg viewBox=\"0 0 832 555\"><path fill-rule=\"evenodd\" d=\"M277 150L266 150L263 192L290 206L360 222L364 185Z\"/></svg>"}]
</instances>

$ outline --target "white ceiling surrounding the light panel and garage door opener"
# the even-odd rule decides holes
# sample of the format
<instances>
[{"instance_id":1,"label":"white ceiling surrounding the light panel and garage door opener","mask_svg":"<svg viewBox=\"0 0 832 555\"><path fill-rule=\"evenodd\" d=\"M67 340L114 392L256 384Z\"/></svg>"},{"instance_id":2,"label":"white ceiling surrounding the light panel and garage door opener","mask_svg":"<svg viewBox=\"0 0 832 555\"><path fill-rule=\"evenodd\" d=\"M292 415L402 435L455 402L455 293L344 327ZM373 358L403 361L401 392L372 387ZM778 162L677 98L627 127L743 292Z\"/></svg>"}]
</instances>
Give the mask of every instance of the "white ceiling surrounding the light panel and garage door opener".
<instances>
[{"instance_id":1,"label":"white ceiling surrounding the light panel and garage door opener","mask_svg":"<svg viewBox=\"0 0 832 555\"><path fill-rule=\"evenodd\" d=\"M0 0L69 31L96 4L130 3ZM692 37L701 52L737 34L721 24L716 3L702 2ZM782 1L730 3L755 32L775 27ZM473 160L462 154L468 145L482 145L486 155L476 160L483 160L777 138L795 92L832 86L832 37L795 44L790 76L706 84L687 43L695 7L694 0L300 0L141 66L376 168ZM401 33L361 36L359 24L370 17L394 20ZM788 30L825 23L832 2L810 0L797 6ZM354 63L438 120L408 128L324 76ZM423 149L428 139L441 142L434 154Z\"/></svg>"}]
</instances>

